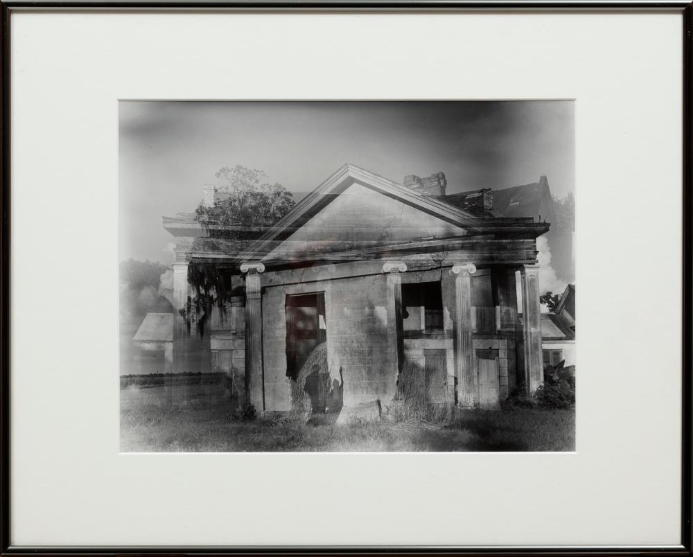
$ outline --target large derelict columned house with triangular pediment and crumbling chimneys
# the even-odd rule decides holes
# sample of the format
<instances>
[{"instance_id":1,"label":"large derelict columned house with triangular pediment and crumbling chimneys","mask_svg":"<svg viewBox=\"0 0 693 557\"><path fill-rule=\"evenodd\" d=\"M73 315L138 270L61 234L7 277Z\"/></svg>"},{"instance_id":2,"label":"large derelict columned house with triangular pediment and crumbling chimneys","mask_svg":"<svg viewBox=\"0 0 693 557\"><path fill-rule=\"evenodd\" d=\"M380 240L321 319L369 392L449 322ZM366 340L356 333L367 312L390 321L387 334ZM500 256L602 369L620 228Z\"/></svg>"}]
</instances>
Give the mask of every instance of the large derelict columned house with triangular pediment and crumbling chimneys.
<instances>
[{"instance_id":1,"label":"large derelict columned house with triangular pediment and crumbling chimneys","mask_svg":"<svg viewBox=\"0 0 693 557\"><path fill-rule=\"evenodd\" d=\"M164 218L175 236L174 371L226 373L238 404L258 412L294 409L304 393L314 410L387 405L403 373L450 406L536 390L536 238L550 224L498 217L487 191L445 190L443 173L398 184L347 164L250 239L190 213ZM219 308L191 303L201 274L224 291Z\"/></svg>"}]
</instances>

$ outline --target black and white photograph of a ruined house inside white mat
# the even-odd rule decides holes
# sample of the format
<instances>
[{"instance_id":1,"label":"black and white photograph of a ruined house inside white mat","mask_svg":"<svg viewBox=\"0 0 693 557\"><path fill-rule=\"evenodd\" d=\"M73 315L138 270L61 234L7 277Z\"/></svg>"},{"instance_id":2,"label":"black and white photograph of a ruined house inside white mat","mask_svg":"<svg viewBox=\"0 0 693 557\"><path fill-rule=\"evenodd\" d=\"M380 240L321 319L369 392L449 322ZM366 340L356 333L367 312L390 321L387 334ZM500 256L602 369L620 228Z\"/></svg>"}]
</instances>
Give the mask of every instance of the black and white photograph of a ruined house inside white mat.
<instances>
[{"instance_id":1,"label":"black and white photograph of a ruined house inside white mat","mask_svg":"<svg viewBox=\"0 0 693 557\"><path fill-rule=\"evenodd\" d=\"M572 100L119 101L121 452L575 450Z\"/></svg>"}]
</instances>

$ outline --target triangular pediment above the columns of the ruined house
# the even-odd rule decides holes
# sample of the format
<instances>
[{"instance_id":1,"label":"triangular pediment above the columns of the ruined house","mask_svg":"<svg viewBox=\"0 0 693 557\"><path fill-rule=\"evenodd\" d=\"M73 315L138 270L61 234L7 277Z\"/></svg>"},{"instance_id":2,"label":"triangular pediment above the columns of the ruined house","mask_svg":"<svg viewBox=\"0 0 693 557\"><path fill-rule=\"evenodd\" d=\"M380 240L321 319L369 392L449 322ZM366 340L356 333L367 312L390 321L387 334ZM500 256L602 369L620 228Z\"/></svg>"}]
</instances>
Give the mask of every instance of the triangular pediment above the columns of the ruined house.
<instances>
[{"instance_id":1,"label":"triangular pediment above the columns of the ruined house","mask_svg":"<svg viewBox=\"0 0 693 557\"><path fill-rule=\"evenodd\" d=\"M254 251L268 261L306 260L466 235L473 215L346 165L263 237Z\"/></svg>"}]
</instances>

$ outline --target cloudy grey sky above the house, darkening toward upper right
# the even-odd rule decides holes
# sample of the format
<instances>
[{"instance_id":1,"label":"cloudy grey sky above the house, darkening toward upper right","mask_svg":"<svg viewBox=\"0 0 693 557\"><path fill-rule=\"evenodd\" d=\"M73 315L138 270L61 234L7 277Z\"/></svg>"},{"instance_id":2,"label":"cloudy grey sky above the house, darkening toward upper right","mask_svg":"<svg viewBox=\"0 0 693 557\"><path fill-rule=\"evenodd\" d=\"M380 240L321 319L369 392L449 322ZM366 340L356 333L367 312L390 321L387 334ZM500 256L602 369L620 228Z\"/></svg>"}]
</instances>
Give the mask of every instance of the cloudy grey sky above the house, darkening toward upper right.
<instances>
[{"instance_id":1,"label":"cloudy grey sky above the house, darkening toward upper right","mask_svg":"<svg viewBox=\"0 0 693 557\"><path fill-rule=\"evenodd\" d=\"M344 163L446 193L547 176L574 192L572 101L162 102L119 105L120 257L168 264L161 217L191 213L224 166L258 168L300 199Z\"/></svg>"}]
</instances>

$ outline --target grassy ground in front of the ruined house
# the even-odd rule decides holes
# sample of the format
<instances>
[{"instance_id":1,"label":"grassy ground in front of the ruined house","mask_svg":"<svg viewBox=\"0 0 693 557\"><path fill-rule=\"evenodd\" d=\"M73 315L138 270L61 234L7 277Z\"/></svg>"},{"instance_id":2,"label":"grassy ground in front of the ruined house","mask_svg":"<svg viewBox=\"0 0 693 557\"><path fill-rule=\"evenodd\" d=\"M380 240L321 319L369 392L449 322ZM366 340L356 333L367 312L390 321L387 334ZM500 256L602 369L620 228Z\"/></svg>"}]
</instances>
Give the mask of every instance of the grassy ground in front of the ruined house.
<instances>
[{"instance_id":1,"label":"grassy ground in front of the ruined house","mask_svg":"<svg viewBox=\"0 0 693 557\"><path fill-rule=\"evenodd\" d=\"M571 451L574 410L464 410L447 425L353 420L347 425L288 418L241 421L209 390L188 404L166 403L164 389L121 390L123 452L245 451Z\"/></svg>"}]
</instances>

